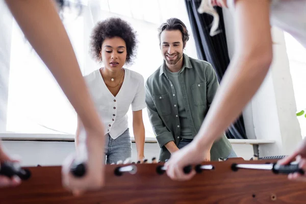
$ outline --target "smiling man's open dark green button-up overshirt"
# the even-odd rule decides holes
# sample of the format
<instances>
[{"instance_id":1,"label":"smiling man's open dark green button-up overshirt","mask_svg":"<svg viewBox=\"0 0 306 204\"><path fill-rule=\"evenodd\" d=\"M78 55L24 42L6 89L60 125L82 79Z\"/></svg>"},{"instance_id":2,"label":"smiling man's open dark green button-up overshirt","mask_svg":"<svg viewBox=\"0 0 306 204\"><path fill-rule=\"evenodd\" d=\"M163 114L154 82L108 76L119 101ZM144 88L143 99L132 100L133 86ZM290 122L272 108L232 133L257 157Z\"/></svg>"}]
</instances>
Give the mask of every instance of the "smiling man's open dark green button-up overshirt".
<instances>
[{"instance_id":1,"label":"smiling man's open dark green button-up overshirt","mask_svg":"<svg viewBox=\"0 0 306 204\"><path fill-rule=\"evenodd\" d=\"M189 58L185 54L183 58L184 65L179 74L179 83L188 125L192 137L195 137L209 110L219 83L210 63ZM181 138L181 122L180 118L176 117L179 115L177 98L173 97L173 94L175 94L174 86L163 64L150 75L145 84L147 111L161 147L161 161L170 158L170 152L165 144L174 141L178 145ZM223 135L221 139L215 141L211 148L211 160L226 158L231 150L231 143Z\"/></svg>"}]
</instances>

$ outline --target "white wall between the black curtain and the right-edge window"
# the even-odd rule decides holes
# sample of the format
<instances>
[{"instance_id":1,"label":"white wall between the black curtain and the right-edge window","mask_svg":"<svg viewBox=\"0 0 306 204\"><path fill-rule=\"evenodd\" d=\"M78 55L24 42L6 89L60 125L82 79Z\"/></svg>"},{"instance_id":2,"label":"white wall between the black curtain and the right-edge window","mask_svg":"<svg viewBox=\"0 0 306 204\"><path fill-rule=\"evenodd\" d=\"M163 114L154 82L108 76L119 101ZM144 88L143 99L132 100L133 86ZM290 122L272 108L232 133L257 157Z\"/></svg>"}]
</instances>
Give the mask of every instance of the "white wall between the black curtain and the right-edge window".
<instances>
[{"instance_id":1,"label":"white wall between the black curtain and the right-edge window","mask_svg":"<svg viewBox=\"0 0 306 204\"><path fill-rule=\"evenodd\" d=\"M223 9L228 54L234 53L234 23L231 13ZM272 29L273 62L259 91L243 111L249 139L275 140L274 144L260 145L260 156L288 155L301 141L301 132L295 116L293 92L284 33Z\"/></svg>"}]
</instances>

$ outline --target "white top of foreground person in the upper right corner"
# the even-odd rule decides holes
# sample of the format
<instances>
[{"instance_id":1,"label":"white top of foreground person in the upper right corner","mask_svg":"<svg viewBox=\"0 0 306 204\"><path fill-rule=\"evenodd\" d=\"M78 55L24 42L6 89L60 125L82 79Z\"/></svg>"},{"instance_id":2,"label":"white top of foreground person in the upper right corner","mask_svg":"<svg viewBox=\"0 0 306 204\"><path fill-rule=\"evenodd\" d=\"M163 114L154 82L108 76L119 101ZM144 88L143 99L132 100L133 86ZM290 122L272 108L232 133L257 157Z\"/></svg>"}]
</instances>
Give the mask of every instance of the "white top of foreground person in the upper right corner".
<instances>
[{"instance_id":1,"label":"white top of foreground person in the upper right corner","mask_svg":"<svg viewBox=\"0 0 306 204\"><path fill-rule=\"evenodd\" d=\"M227 0L227 6L234 11L235 0ZM306 0L271 0L270 22L306 48Z\"/></svg>"}]
</instances>

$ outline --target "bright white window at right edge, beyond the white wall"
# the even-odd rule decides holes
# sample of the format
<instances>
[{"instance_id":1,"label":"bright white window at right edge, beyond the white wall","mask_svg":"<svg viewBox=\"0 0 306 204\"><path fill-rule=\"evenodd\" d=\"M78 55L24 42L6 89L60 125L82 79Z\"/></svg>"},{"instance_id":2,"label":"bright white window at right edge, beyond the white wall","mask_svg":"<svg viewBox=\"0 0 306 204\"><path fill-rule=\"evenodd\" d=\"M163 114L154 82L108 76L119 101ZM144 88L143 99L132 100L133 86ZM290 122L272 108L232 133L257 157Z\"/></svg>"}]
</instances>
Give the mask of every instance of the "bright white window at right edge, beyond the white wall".
<instances>
[{"instance_id":1,"label":"bright white window at right edge, beyond the white wall","mask_svg":"<svg viewBox=\"0 0 306 204\"><path fill-rule=\"evenodd\" d=\"M290 73L293 82L293 90L297 112L304 111L297 116L302 137L306 136L306 49L285 32L285 42L289 59Z\"/></svg>"}]
</instances>

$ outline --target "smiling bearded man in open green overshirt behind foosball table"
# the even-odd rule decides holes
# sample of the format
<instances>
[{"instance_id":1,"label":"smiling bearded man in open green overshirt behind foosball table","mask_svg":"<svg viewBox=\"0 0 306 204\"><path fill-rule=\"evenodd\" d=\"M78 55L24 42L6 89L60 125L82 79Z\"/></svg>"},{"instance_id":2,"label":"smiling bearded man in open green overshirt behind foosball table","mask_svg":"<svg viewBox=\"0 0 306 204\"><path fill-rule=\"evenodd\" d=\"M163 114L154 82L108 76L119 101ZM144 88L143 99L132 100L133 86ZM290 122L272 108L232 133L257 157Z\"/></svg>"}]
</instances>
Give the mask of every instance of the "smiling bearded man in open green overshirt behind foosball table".
<instances>
[{"instance_id":1,"label":"smiling bearded man in open green overshirt behind foosball table","mask_svg":"<svg viewBox=\"0 0 306 204\"><path fill-rule=\"evenodd\" d=\"M163 64L146 82L145 100L151 125L161 147L160 161L189 144L200 129L219 86L212 65L183 53L189 34L185 24L170 18L159 28ZM220 116L222 117L222 116ZM237 157L223 135L210 158Z\"/></svg>"}]
</instances>

